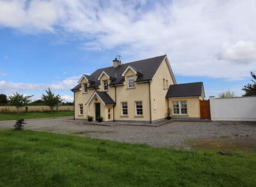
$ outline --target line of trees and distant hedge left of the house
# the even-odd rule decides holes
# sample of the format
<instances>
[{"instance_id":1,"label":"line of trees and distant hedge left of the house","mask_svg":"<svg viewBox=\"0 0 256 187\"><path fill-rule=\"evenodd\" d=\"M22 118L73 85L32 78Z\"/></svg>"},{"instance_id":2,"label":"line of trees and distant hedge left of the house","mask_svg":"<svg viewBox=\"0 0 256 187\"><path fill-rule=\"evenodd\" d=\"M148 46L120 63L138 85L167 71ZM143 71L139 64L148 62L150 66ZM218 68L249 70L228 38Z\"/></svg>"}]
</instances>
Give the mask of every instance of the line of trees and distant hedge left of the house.
<instances>
[{"instance_id":1,"label":"line of trees and distant hedge left of the house","mask_svg":"<svg viewBox=\"0 0 256 187\"><path fill-rule=\"evenodd\" d=\"M19 111L23 107L28 105L46 105L50 108L51 113L53 112L54 107L74 105L74 103L72 102L64 103L64 99L61 99L61 96L59 94L54 94L50 88L48 88L48 90L45 90L45 92L46 94L41 95L41 99L33 102L31 102L30 99L31 97L33 97L33 95L24 95L19 94L18 92L8 96L5 94L0 94L0 105L15 106L17 114L19 114Z\"/></svg>"}]
</instances>

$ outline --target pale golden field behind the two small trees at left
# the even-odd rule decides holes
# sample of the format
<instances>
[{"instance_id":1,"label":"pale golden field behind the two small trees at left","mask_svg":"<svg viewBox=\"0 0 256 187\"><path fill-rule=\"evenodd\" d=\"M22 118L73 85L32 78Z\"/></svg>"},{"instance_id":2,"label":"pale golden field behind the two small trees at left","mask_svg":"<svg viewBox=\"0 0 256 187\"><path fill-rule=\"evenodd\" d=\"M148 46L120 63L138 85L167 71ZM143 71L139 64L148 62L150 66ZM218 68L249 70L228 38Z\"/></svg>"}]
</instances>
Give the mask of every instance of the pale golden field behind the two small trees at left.
<instances>
[{"instance_id":1,"label":"pale golden field behind the two small trees at left","mask_svg":"<svg viewBox=\"0 0 256 187\"><path fill-rule=\"evenodd\" d=\"M28 106L28 112L47 112L50 111L48 106ZM56 107L54 108L56 111ZM74 106L59 106L58 111L74 111ZM15 113L15 106L0 106L0 114ZM26 108L23 107L21 112L26 112Z\"/></svg>"}]
</instances>

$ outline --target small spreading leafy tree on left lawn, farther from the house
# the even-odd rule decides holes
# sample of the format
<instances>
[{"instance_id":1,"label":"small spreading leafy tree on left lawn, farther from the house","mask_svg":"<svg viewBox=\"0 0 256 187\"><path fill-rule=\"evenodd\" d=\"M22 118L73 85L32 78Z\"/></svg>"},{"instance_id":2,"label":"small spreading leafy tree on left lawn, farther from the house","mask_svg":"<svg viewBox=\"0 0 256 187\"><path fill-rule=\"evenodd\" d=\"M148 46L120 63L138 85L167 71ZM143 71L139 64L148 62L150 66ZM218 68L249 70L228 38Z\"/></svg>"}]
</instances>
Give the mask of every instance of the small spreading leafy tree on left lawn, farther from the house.
<instances>
[{"instance_id":1,"label":"small spreading leafy tree on left lawn, farther from the house","mask_svg":"<svg viewBox=\"0 0 256 187\"><path fill-rule=\"evenodd\" d=\"M19 111L24 106L27 106L27 104L31 101L31 99L29 99L30 97L33 97L33 95L24 96L23 94L19 94L18 92L16 92L16 94L8 96L8 98L10 99L10 104L16 107L18 115L19 115Z\"/></svg>"}]
</instances>

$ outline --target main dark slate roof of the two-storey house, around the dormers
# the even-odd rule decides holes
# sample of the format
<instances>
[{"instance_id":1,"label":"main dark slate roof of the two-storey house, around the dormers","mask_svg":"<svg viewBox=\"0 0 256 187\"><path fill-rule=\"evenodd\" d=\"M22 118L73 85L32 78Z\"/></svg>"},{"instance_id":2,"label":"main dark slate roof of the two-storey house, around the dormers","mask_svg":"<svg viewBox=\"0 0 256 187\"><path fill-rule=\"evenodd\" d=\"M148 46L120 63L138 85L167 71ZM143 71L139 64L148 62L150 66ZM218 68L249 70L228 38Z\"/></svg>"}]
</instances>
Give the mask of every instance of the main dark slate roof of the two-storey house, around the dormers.
<instances>
[{"instance_id":1,"label":"main dark slate roof of the two-storey house, around the dormers","mask_svg":"<svg viewBox=\"0 0 256 187\"><path fill-rule=\"evenodd\" d=\"M90 79L91 80L97 79L99 75L104 71L106 72L106 74L109 75L109 77L114 79L111 81L109 85L122 84L124 82L124 77L122 77L121 75L128 66L131 66L132 68L134 68L134 70L138 72L138 74L142 73L142 75L138 77L136 82L151 80L155 75L155 73L157 72L157 69L159 68L161 62L165 57L166 55L162 55L159 57L153 57L149 59L120 64L116 68L114 68L113 66L110 66L107 68L97 69L95 72L93 72L90 75ZM100 85L100 81L96 80L94 83L91 83L88 86L88 88L95 88L95 87L98 87L99 85Z\"/></svg>"}]
</instances>

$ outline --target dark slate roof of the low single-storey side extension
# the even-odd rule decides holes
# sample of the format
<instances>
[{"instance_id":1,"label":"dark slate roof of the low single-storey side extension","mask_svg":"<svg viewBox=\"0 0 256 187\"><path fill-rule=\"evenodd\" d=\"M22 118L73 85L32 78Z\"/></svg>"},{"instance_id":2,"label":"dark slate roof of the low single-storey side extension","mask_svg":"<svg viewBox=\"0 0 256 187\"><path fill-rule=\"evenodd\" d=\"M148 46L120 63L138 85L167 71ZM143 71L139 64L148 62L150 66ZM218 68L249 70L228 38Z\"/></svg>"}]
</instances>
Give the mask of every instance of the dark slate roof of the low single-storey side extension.
<instances>
[{"instance_id":1,"label":"dark slate roof of the low single-storey side extension","mask_svg":"<svg viewBox=\"0 0 256 187\"><path fill-rule=\"evenodd\" d=\"M173 84L169 86L166 93L168 97L193 97L205 96L204 86L202 82L192 82L184 84Z\"/></svg>"}]
</instances>

